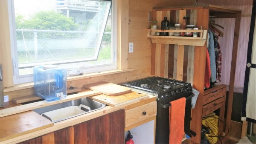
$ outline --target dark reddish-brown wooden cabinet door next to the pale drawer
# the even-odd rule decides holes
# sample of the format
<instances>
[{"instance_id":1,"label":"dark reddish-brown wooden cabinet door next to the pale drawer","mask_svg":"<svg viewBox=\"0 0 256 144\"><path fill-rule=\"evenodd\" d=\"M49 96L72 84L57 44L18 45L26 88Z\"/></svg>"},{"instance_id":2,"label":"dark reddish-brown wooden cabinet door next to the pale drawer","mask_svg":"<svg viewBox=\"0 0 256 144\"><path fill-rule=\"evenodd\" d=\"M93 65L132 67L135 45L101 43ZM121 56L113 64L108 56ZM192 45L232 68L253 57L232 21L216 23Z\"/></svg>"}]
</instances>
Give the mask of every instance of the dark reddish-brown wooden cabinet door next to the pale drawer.
<instances>
[{"instance_id":1,"label":"dark reddish-brown wooden cabinet door next to the pale drawer","mask_svg":"<svg viewBox=\"0 0 256 144\"><path fill-rule=\"evenodd\" d=\"M75 144L124 144L125 111L120 109L74 126Z\"/></svg>"}]
</instances>

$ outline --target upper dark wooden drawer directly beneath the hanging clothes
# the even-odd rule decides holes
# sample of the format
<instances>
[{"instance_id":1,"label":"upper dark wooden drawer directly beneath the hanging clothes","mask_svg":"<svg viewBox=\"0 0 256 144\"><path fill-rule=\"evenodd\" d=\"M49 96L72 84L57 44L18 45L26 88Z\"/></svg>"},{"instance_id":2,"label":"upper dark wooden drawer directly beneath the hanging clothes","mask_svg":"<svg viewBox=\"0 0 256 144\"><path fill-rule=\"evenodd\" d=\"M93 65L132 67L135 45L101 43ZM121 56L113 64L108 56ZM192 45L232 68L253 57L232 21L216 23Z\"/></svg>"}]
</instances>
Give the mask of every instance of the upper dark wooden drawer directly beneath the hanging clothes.
<instances>
[{"instance_id":1,"label":"upper dark wooden drawer directly beneath the hanging clothes","mask_svg":"<svg viewBox=\"0 0 256 144\"><path fill-rule=\"evenodd\" d=\"M204 95L203 105L206 105L212 101L215 101L216 99L221 98L222 96L225 96L225 95L226 95L226 87L223 87L221 89L214 89L212 92Z\"/></svg>"}]
</instances>

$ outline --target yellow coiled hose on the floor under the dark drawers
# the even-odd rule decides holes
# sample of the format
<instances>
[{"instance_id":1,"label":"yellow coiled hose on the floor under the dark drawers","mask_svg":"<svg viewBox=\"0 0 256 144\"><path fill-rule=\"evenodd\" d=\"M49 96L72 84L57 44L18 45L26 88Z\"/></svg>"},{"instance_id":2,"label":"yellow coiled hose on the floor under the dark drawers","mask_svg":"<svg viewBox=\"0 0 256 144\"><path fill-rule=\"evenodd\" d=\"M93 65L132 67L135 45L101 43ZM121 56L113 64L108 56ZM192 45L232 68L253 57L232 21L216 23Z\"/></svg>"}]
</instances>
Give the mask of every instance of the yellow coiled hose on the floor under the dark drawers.
<instances>
[{"instance_id":1,"label":"yellow coiled hose on the floor under the dark drawers","mask_svg":"<svg viewBox=\"0 0 256 144\"><path fill-rule=\"evenodd\" d=\"M212 115L212 117L203 118L202 124L204 124L205 127L209 127L211 129L209 130L210 134L206 134L210 144L216 144L218 141L218 115Z\"/></svg>"}]
</instances>

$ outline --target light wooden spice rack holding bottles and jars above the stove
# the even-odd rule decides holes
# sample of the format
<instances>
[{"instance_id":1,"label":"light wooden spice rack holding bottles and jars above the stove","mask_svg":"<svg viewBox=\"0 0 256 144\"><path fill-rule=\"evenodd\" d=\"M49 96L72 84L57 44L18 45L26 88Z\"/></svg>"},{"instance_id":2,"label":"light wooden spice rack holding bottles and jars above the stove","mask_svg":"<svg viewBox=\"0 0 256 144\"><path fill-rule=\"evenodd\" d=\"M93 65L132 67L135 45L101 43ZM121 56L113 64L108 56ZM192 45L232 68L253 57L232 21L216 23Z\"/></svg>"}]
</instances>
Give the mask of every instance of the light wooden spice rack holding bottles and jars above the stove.
<instances>
[{"instance_id":1,"label":"light wooden spice rack holding bottles and jars above the stove","mask_svg":"<svg viewBox=\"0 0 256 144\"><path fill-rule=\"evenodd\" d=\"M151 38L152 43L162 44L177 44L189 46L204 46L207 37L207 30L160 30L160 29L146 29L147 37ZM158 36L150 35L150 32L198 32L200 37L185 37L185 36Z\"/></svg>"}]
</instances>

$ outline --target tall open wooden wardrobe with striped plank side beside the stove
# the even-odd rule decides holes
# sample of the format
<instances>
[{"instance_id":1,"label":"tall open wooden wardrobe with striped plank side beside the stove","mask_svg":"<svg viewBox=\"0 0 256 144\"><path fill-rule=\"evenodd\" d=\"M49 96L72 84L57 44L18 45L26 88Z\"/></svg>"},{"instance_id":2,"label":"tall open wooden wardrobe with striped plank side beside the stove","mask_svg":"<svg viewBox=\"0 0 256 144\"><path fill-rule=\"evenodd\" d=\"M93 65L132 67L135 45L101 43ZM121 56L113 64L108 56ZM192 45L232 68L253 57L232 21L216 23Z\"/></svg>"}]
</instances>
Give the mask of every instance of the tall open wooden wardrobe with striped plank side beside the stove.
<instances>
[{"instance_id":1,"label":"tall open wooden wardrobe with striped plank side beside the stove","mask_svg":"<svg viewBox=\"0 0 256 144\"><path fill-rule=\"evenodd\" d=\"M193 24L197 27L202 26L205 30L209 27L209 16L214 16L215 18L235 18L226 119L227 126L230 127L241 10L214 5L156 7L153 8L152 16L152 20L158 22L163 20L163 17L167 17L171 23L181 23L183 17L186 16L189 17L188 24ZM160 23L158 23L158 27L160 27ZM146 31L148 33L150 32L149 29ZM166 30L166 32L169 31L170 30ZM180 30L180 32L183 31L186 32L185 30ZM203 30L200 35L202 34L206 35L207 32L204 32ZM209 112L212 112L215 109L220 109L221 112L224 112L224 95L226 95L224 94L224 91L226 91L226 88L224 88L225 86L204 91L204 74L207 54L206 40L204 39L204 36L189 38L151 36L148 34L148 37L150 37L152 42L151 74L190 82L193 84L193 88L200 92L195 108L192 109L191 121L191 130L196 132L197 135L190 139L194 143L200 143L202 116L209 114ZM219 133L222 133L222 131Z\"/></svg>"}]
</instances>

